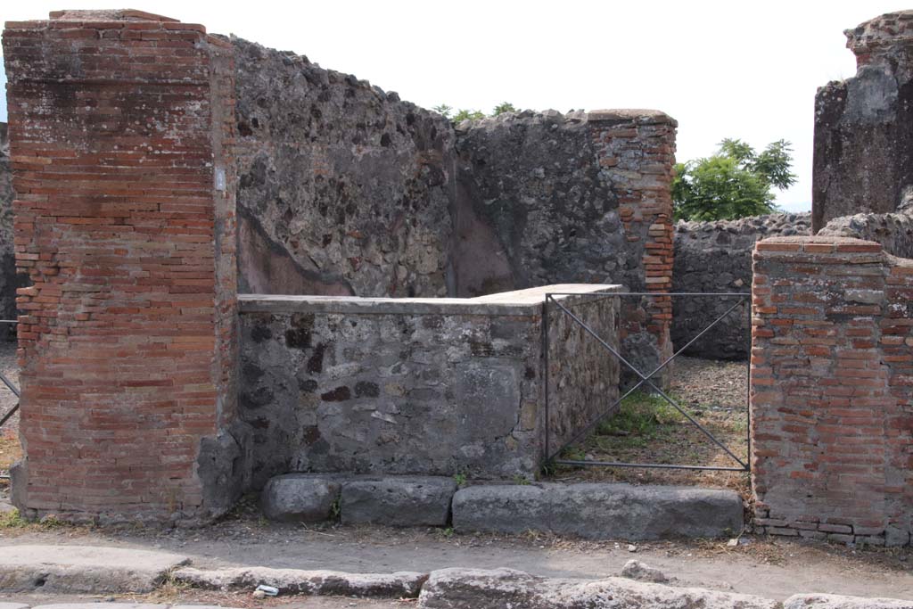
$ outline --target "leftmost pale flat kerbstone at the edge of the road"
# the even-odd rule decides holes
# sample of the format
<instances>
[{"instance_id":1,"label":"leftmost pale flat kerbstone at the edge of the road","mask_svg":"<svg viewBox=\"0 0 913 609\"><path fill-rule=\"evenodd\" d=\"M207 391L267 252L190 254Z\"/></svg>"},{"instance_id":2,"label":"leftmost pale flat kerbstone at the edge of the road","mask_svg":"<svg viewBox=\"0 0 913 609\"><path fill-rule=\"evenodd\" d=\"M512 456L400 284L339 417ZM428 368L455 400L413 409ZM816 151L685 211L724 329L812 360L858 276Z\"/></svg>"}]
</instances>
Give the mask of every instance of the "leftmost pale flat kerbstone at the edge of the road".
<instances>
[{"instance_id":1,"label":"leftmost pale flat kerbstone at the edge of the road","mask_svg":"<svg viewBox=\"0 0 913 609\"><path fill-rule=\"evenodd\" d=\"M99 546L6 546L0 552L0 590L150 592L168 572L187 562L186 556L163 551Z\"/></svg>"}]
</instances>

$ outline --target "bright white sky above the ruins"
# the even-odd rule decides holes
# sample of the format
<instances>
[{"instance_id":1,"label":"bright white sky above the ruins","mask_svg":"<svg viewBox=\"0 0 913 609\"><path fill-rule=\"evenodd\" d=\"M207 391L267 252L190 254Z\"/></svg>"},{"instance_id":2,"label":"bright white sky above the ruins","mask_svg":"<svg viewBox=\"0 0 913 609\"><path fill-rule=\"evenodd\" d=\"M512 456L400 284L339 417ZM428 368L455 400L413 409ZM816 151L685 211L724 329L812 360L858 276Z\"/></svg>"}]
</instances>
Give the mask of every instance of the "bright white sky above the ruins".
<instances>
[{"instance_id":1,"label":"bright white sky above the ruins","mask_svg":"<svg viewBox=\"0 0 913 609\"><path fill-rule=\"evenodd\" d=\"M726 137L757 148L783 138L799 175L778 198L789 210L811 208L815 89L855 74L843 30L904 8L882 0L129 4L307 55L426 108L490 111L507 100L535 110L664 110L679 122L679 161L711 154ZM6 1L0 17L41 19L76 6L110 7Z\"/></svg>"}]
</instances>

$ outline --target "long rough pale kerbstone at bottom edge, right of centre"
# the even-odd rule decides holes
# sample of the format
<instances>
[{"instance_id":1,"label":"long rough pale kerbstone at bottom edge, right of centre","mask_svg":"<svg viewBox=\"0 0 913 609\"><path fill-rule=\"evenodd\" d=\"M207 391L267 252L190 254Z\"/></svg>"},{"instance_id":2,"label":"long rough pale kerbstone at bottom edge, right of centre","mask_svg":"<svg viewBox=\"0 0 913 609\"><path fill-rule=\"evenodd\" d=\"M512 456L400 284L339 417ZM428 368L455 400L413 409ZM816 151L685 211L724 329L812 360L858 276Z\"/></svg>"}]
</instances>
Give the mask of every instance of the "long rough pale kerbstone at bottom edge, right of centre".
<instances>
[{"instance_id":1,"label":"long rough pale kerbstone at bottom edge, right of centre","mask_svg":"<svg viewBox=\"0 0 913 609\"><path fill-rule=\"evenodd\" d=\"M624 578L547 579L511 569L442 569L422 586L422 609L776 609L779 603L748 594L677 588Z\"/></svg>"}]
</instances>

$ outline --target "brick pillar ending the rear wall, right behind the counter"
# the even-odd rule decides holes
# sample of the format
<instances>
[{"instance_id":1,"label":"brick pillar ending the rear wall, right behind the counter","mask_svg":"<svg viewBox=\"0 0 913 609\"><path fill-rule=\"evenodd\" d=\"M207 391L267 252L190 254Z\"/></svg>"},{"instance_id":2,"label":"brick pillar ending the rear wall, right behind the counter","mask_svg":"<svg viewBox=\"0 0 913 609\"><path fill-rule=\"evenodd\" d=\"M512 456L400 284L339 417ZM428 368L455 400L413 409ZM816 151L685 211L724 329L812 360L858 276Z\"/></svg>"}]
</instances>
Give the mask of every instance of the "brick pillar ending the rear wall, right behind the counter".
<instances>
[{"instance_id":1,"label":"brick pillar ending the rear wall, right behind the counter","mask_svg":"<svg viewBox=\"0 0 913 609\"><path fill-rule=\"evenodd\" d=\"M672 355L672 178L678 123L658 110L596 110L587 115L599 163L618 193L624 238L640 260L621 278L632 292L653 292L622 302L622 349L642 372ZM671 369L661 374L666 383ZM625 383L632 380L626 369Z\"/></svg>"}]
</instances>

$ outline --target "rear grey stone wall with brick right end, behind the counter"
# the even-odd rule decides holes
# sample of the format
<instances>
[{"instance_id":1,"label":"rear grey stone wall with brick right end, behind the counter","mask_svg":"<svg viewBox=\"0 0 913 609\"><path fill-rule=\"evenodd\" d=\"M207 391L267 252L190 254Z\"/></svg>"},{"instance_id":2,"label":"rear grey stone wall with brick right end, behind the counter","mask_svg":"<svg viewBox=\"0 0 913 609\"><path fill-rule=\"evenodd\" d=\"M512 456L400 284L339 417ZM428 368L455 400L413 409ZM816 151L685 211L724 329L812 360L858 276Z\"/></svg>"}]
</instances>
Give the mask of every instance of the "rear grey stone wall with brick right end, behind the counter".
<instances>
[{"instance_id":1,"label":"rear grey stone wall with brick right end, behind the counter","mask_svg":"<svg viewBox=\"0 0 913 609\"><path fill-rule=\"evenodd\" d=\"M677 122L656 110L520 112L458 126L456 294L562 281L672 286ZM671 353L667 297L623 301L642 370Z\"/></svg>"}]
</instances>

